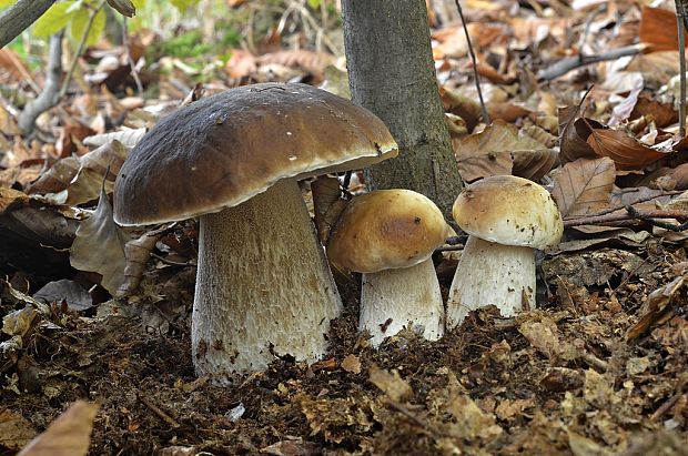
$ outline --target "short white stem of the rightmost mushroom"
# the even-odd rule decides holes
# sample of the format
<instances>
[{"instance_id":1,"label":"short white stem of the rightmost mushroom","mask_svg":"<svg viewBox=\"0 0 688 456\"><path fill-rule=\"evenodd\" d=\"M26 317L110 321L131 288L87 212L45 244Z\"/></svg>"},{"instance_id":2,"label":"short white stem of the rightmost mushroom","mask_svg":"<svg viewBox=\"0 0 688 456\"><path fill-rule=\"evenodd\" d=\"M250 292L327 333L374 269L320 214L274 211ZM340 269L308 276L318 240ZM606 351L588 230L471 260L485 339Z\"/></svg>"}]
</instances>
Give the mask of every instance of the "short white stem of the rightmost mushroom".
<instances>
[{"instance_id":1,"label":"short white stem of the rightmost mushroom","mask_svg":"<svg viewBox=\"0 0 688 456\"><path fill-rule=\"evenodd\" d=\"M533 247L503 245L468 236L447 301L447 330L468 312L494 304L503 316L516 315L524 301L535 308Z\"/></svg>"}]
</instances>

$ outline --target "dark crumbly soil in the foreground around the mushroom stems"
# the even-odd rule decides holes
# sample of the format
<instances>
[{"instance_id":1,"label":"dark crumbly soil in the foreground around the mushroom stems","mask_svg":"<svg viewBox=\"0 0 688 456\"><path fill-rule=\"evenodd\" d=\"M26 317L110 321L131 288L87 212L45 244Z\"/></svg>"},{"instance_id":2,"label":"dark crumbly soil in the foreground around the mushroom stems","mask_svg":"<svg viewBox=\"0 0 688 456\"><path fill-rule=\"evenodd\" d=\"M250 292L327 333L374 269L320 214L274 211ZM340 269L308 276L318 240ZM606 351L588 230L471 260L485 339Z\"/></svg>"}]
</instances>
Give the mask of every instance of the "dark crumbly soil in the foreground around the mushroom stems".
<instances>
[{"instance_id":1,"label":"dark crumbly soil in the foreground around the mushroom stems","mask_svg":"<svg viewBox=\"0 0 688 456\"><path fill-rule=\"evenodd\" d=\"M323 361L275 359L226 388L194 375L193 267L151 262L139 302L41 313L2 358L0 412L41 432L95 402L93 455L684 455L688 306L667 285L684 260L657 240L549 256L542 308L487 307L438 342L407 331L378 349L356 331L354 280ZM445 293L454 265L438 262ZM26 306L18 283L0 285L2 315Z\"/></svg>"}]
</instances>

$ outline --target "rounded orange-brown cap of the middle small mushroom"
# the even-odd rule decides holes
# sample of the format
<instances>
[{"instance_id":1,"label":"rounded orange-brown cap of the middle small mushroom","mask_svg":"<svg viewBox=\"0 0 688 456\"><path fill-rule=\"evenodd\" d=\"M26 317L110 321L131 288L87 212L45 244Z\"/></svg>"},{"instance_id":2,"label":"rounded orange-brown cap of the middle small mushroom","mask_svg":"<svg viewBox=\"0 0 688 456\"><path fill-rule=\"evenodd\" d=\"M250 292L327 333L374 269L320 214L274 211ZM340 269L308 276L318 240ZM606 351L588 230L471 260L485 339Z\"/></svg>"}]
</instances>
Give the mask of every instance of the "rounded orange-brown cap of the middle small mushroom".
<instances>
[{"instance_id":1,"label":"rounded orange-brown cap of the middle small mushroom","mask_svg":"<svg viewBox=\"0 0 688 456\"><path fill-rule=\"evenodd\" d=\"M376 190L348 203L327 242L327 256L344 271L411 267L444 243L448 227L425 195Z\"/></svg>"}]
</instances>

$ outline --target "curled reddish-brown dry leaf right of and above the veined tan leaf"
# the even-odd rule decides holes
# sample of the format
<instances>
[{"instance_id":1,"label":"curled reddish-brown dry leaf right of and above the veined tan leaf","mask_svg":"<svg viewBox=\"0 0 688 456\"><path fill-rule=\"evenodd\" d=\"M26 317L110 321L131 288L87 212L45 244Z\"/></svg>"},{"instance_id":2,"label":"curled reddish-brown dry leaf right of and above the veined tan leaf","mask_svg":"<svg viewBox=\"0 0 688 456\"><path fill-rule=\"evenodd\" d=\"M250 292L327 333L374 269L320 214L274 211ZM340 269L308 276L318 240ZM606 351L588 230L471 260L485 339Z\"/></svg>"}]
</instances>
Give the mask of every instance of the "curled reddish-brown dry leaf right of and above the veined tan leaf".
<instances>
[{"instance_id":1,"label":"curled reddish-brown dry leaf right of and above the veined tan leaf","mask_svg":"<svg viewBox=\"0 0 688 456\"><path fill-rule=\"evenodd\" d=\"M618 130L594 129L587 143L597 155L614 160L618 170L643 170L667 156Z\"/></svg>"}]
</instances>

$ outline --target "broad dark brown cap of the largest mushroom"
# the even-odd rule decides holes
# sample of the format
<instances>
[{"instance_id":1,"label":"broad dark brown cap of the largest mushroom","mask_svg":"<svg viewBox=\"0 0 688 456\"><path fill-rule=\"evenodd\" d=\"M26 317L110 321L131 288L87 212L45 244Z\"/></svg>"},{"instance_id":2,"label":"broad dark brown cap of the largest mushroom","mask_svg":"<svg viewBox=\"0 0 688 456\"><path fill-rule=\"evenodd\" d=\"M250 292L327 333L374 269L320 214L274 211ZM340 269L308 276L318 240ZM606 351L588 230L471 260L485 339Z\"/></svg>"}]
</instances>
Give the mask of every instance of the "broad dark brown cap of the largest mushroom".
<instances>
[{"instance_id":1,"label":"broad dark brown cap of the largest mushroom","mask_svg":"<svg viewBox=\"0 0 688 456\"><path fill-rule=\"evenodd\" d=\"M114 220L163 223L221 211L284 178L360 169L395 156L384 123L306 84L230 89L160 121L124 162Z\"/></svg>"}]
</instances>

